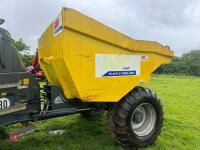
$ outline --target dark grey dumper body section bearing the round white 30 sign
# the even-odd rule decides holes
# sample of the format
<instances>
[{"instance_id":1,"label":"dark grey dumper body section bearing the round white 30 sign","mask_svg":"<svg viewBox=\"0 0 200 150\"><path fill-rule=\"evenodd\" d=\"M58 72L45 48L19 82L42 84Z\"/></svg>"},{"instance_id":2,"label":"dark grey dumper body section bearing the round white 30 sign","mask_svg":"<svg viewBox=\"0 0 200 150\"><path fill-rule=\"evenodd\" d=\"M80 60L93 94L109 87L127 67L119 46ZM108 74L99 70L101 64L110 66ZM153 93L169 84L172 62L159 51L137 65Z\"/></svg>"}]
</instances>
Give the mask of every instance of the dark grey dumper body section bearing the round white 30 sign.
<instances>
[{"instance_id":1,"label":"dark grey dumper body section bearing the round white 30 sign","mask_svg":"<svg viewBox=\"0 0 200 150\"><path fill-rule=\"evenodd\" d=\"M40 109L40 86L31 73L0 73L0 126L32 120Z\"/></svg>"}]
</instances>

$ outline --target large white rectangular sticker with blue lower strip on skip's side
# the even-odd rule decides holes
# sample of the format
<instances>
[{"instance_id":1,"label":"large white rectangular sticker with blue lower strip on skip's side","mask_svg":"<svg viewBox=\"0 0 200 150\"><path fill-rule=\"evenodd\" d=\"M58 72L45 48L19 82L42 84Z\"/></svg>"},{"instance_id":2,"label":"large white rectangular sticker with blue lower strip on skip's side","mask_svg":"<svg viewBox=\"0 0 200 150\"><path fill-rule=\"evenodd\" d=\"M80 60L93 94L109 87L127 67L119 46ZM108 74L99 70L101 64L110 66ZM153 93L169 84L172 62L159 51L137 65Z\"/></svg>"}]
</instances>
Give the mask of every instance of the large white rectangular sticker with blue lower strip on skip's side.
<instances>
[{"instance_id":1,"label":"large white rectangular sticker with blue lower strip on skip's side","mask_svg":"<svg viewBox=\"0 0 200 150\"><path fill-rule=\"evenodd\" d=\"M139 76L141 56L96 54L96 77Z\"/></svg>"}]
</instances>

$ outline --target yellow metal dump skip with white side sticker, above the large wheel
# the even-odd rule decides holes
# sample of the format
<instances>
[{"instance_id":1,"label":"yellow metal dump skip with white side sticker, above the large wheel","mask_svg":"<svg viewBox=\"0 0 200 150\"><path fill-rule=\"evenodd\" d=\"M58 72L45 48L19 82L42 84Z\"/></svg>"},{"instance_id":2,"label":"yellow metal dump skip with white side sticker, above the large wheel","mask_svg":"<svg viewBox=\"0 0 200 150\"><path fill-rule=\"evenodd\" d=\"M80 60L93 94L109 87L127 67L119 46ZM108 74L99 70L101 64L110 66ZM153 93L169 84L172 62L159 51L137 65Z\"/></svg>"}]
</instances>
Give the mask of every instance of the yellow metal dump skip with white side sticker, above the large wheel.
<instances>
[{"instance_id":1,"label":"yellow metal dump skip with white side sticker, above the large wheel","mask_svg":"<svg viewBox=\"0 0 200 150\"><path fill-rule=\"evenodd\" d=\"M84 102L117 102L173 58L168 47L134 40L68 8L62 9L38 45L48 81L66 98Z\"/></svg>"}]
</instances>

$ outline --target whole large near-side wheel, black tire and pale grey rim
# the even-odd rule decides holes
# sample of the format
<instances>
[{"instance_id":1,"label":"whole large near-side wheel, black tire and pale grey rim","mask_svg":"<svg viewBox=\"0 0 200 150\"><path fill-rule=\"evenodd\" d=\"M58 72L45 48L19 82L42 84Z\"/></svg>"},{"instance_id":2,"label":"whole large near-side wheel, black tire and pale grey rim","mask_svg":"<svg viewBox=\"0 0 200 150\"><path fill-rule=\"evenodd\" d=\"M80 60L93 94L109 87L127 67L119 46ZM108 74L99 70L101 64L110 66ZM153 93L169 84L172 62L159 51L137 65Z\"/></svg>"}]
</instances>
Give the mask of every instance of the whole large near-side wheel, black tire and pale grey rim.
<instances>
[{"instance_id":1,"label":"whole large near-side wheel, black tire and pale grey rim","mask_svg":"<svg viewBox=\"0 0 200 150\"><path fill-rule=\"evenodd\" d=\"M108 125L124 147L152 144L163 126L163 107L149 89L136 87L108 112Z\"/></svg>"}]
</instances>

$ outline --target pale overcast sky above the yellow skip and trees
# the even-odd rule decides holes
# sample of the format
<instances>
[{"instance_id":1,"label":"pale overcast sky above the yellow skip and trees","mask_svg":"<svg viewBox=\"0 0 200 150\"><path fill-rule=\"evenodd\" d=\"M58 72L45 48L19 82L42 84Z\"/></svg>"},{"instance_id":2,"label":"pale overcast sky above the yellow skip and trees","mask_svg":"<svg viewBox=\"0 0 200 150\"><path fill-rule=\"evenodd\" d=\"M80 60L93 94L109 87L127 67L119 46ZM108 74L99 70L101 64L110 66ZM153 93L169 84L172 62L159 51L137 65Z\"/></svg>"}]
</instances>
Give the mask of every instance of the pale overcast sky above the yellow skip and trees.
<instances>
[{"instance_id":1,"label":"pale overcast sky above the yellow skip and trees","mask_svg":"<svg viewBox=\"0 0 200 150\"><path fill-rule=\"evenodd\" d=\"M200 0L0 0L2 25L34 53L62 7L76 9L136 39L169 45L175 55L200 49Z\"/></svg>"}]
</instances>

